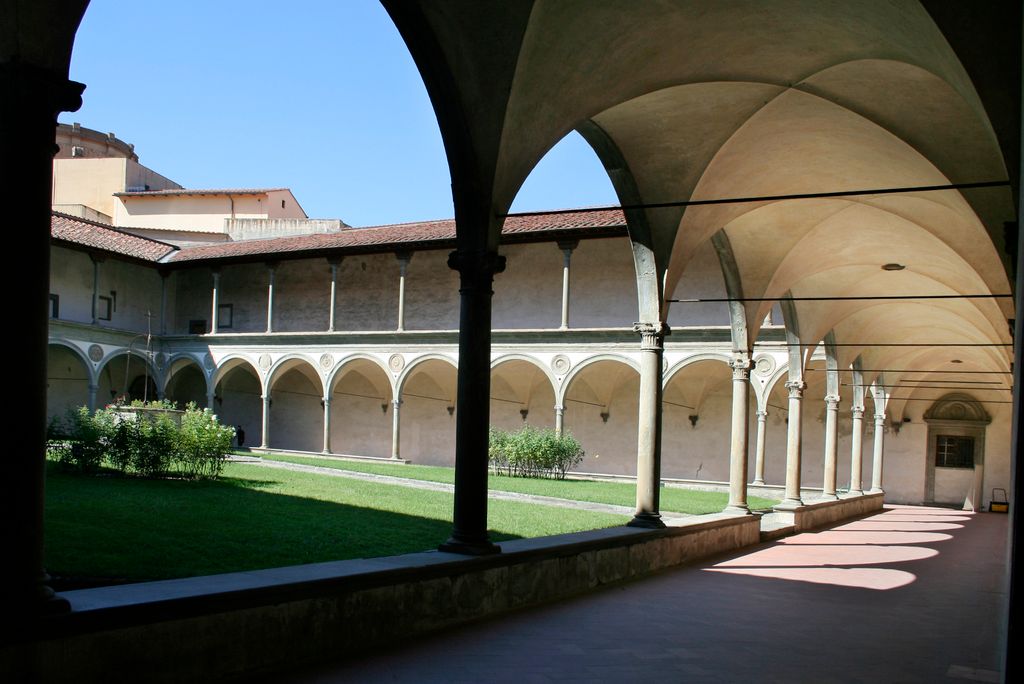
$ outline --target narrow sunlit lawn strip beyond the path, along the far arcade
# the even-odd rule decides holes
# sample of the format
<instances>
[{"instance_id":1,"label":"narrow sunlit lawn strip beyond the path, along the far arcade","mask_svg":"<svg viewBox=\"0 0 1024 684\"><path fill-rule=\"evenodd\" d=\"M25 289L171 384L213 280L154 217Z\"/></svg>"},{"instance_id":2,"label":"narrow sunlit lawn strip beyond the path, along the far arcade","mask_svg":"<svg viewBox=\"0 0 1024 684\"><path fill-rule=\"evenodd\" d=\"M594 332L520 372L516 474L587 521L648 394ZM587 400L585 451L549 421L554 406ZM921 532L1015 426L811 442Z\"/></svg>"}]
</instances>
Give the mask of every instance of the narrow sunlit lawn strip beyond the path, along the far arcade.
<instances>
[{"instance_id":1,"label":"narrow sunlit lawn strip beyond the path, along the far arcade","mask_svg":"<svg viewBox=\"0 0 1024 684\"><path fill-rule=\"evenodd\" d=\"M438 466L418 466L415 464L375 463L372 461L342 461L340 459L324 459L295 455L263 455L268 461L284 461L316 465L339 470L353 470L377 475L392 475L432 482L455 481L455 470ZM636 504L636 486L632 482L607 482L596 480L547 480L524 477L505 477L492 475L487 485L500 491L517 491L534 494L572 501L593 501L600 504L615 504L617 506L633 506ZM662 510L672 513L689 513L703 515L718 513L729 501L728 495L722 491L700 491L680 487L662 487ZM778 503L773 499L751 497L748 502L753 509L771 508Z\"/></svg>"}]
</instances>

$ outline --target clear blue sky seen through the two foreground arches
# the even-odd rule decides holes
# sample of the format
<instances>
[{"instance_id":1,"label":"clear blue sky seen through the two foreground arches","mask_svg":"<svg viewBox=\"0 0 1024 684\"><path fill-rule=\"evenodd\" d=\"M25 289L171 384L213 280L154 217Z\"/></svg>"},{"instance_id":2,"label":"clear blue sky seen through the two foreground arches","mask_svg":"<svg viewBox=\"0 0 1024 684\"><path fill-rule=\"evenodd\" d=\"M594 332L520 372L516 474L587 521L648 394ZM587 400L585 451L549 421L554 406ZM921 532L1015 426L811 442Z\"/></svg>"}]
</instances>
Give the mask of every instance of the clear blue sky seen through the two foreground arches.
<instances>
[{"instance_id":1,"label":"clear blue sky seen through the two foreground arches","mask_svg":"<svg viewBox=\"0 0 1024 684\"><path fill-rule=\"evenodd\" d=\"M113 131L186 187L291 187L306 213L376 225L453 214L433 110L376 0L92 0L65 123ZM513 210L615 204L574 133Z\"/></svg>"}]
</instances>

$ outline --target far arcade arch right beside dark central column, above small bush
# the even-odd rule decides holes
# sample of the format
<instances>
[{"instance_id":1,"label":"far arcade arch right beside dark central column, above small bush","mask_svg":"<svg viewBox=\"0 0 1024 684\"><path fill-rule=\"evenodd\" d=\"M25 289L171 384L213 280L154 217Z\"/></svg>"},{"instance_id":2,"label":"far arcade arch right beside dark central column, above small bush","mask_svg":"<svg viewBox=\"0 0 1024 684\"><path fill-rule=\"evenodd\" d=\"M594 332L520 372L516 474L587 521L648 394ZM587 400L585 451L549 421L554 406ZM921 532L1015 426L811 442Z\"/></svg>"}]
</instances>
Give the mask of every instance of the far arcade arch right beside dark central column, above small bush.
<instances>
[{"instance_id":1,"label":"far arcade arch right beside dark central column, above small bush","mask_svg":"<svg viewBox=\"0 0 1024 684\"><path fill-rule=\"evenodd\" d=\"M499 356L490 362L490 424L503 429L518 429L524 423L555 427L557 387L551 371L537 358Z\"/></svg>"}]
</instances>

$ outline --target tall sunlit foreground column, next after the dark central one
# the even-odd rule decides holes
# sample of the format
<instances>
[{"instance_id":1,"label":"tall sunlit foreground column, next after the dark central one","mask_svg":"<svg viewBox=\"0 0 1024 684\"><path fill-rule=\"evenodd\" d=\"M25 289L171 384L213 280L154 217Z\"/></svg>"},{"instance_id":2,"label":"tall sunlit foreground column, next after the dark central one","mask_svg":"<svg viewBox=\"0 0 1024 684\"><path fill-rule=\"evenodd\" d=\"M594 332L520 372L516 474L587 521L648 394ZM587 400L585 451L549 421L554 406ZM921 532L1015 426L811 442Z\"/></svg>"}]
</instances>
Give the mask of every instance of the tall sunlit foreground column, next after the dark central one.
<instances>
[{"instance_id":1,"label":"tall sunlit foreground column, next after the dark central one","mask_svg":"<svg viewBox=\"0 0 1024 684\"><path fill-rule=\"evenodd\" d=\"M633 527L664 527L658 511L662 485L662 357L669 327L638 323L640 333L640 415L637 434L637 508Z\"/></svg>"}]
</instances>

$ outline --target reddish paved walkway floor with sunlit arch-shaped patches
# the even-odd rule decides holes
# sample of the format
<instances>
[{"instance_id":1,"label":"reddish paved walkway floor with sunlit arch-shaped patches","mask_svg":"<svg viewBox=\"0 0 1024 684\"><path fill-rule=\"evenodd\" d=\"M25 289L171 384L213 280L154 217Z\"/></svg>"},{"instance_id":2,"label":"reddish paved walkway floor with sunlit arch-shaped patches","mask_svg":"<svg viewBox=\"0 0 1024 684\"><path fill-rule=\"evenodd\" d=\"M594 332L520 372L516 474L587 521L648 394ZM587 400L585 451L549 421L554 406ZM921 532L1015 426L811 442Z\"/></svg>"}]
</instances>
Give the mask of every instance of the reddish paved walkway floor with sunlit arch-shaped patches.
<instances>
[{"instance_id":1,"label":"reddish paved walkway floor with sunlit arch-shaped patches","mask_svg":"<svg viewBox=\"0 0 1024 684\"><path fill-rule=\"evenodd\" d=\"M273 681L996 682L1007 530L887 507Z\"/></svg>"}]
</instances>

